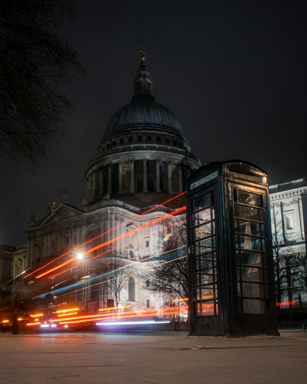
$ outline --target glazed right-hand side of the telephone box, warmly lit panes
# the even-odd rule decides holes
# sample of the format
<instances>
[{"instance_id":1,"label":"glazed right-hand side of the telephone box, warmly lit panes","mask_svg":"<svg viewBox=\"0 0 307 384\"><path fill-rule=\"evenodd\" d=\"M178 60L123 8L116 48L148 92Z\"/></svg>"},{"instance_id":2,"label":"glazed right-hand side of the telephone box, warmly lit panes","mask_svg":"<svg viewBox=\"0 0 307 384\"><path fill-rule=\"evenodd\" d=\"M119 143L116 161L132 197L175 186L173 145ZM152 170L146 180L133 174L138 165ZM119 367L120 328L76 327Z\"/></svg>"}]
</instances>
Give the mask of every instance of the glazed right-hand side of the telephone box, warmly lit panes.
<instances>
[{"instance_id":1,"label":"glazed right-hand side of the telephone box, warmly lit panes","mask_svg":"<svg viewBox=\"0 0 307 384\"><path fill-rule=\"evenodd\" d=\"M233 188L238 313L268 314L263 196Z\"/></svg>"}]
</instances>

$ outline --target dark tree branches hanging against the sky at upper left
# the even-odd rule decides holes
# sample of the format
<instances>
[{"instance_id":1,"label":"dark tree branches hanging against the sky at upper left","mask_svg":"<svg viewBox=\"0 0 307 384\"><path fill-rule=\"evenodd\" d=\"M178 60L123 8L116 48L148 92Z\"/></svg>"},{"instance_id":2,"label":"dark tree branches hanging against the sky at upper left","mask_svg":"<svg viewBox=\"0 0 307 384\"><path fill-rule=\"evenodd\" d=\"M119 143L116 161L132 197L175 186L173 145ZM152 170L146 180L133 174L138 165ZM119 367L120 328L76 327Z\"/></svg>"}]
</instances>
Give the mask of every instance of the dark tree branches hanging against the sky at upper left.
<instances>
[{"instance_id":1,"label":"dark tree branches hanging against the sky at upper left","mask_svg":"<svg viewBox=\"0 0 307 384\"><path fill-rule=\"evenodd\" d=\"M0 3L0 157L17 169L45 157L71 101L64 89L84 74L79 55L59 35L74 20L71 0Z\"/></svg>"}]
</instances>

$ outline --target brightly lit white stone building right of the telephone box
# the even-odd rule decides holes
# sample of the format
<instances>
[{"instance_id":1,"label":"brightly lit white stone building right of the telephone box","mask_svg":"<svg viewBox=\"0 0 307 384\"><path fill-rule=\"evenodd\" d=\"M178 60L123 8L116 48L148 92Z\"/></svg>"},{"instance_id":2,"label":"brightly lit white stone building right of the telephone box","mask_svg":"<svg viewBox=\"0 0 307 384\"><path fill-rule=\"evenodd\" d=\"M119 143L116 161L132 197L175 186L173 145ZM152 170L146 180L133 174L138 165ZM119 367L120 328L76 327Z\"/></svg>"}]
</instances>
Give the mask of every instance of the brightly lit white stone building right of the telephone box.
<instances>
[{"instance_id":1,"label":"brightly lit white stone building right of the telephone box","mask_svg":"<svg viewBox=\"0 0 307 384\"><path fill-rule=\"evenodd\" d=\"M307 308L304 230L304 220L307 217L304 217L302 202L302 196L306 192L306 179L269 187L273 250L275 239L274 257L279 265L276 285L281 289L280 298L277 293L277 308Z\"/></svg>"}]
</instances>

